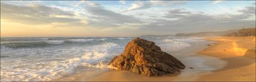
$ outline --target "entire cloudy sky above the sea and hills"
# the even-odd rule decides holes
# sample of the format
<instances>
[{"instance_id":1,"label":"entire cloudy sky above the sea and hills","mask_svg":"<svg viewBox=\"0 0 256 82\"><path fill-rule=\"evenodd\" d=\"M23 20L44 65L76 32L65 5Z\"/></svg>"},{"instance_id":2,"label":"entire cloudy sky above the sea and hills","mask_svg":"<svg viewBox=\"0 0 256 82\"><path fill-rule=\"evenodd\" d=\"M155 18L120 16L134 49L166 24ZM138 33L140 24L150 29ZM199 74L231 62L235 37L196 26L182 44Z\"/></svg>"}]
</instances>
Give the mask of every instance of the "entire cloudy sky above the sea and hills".
<instances>
[{"instance_id":1,"label":"entire cloudy sky above the sea and hills","mask_svg":"<svg viewBox=\"0 0 256 82\"><path fill-rule=\"evenodd\" d=\"M1 37L139 37L255 28L255 1L1 1Z\"/></svg>"}]
</instances>

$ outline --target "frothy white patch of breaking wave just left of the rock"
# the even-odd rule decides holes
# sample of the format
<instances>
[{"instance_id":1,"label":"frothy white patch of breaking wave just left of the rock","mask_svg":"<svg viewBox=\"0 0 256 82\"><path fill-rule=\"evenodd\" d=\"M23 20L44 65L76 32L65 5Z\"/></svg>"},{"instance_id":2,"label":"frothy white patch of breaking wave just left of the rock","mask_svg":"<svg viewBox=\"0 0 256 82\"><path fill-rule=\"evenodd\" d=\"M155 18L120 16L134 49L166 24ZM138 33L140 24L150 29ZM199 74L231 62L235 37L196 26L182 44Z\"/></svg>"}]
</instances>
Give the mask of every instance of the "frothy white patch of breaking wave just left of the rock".
<instances>
[{"instance_id":1,"label":"frothy white patch of breaking wave just left of the rock","mask_svg":"<svg viewBox=\"0 0 256 82\"><path fill-rule=\"evenodd\" d=\"M92 51L88 51L84 54L81 59L86 63L84 66L96 67L96 68L107 68L107 62L111 60L113 56L120 53L121 47L118 44L106 43L101 46L96 46Z\"/></svg>"}]
</instances>

